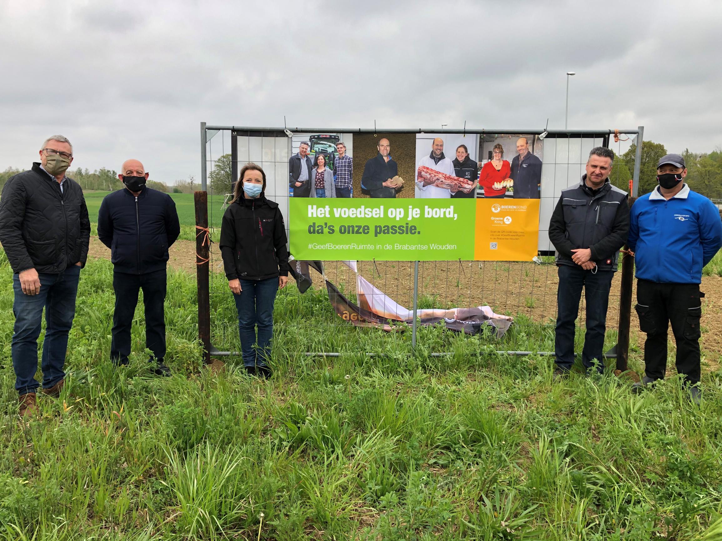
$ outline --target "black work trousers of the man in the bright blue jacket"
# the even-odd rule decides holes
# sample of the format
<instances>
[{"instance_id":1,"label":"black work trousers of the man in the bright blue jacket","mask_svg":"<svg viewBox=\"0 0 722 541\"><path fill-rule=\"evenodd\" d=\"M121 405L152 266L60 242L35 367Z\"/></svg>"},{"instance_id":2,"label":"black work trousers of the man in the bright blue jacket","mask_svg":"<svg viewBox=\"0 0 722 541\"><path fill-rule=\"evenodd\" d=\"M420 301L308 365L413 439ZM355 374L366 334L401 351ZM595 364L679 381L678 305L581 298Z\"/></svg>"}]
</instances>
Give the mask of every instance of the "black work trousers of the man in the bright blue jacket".
<instances>
[{"instance_id":1,"label":"black work trousers of the man in the bright blue jacket","mask_svg":"<svg viewBox=\"0 0 722 541\"><path fill-rule=\"evenodd\" d=\"M644 365L647 377L662 379L667 368L667 329L677 342L677 372L687 383L700 381L701 297L698 283L637 281L639 326L647 333Z\"/></svg>"}]
</instances>

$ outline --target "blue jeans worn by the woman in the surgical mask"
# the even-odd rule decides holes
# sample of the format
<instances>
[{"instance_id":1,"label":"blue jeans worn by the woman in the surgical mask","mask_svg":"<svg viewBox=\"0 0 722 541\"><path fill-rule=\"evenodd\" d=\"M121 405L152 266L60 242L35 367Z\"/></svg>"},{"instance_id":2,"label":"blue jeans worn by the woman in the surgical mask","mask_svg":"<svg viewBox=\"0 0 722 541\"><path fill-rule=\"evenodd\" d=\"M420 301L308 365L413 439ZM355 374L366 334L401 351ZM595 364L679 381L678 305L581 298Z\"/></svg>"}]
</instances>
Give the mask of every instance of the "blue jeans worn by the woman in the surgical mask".
<instances>
[{"instance_id":1,"label":"blue jeans worn by the woman in the surgical mask","mask_svg":"<svg viewBox=\"0 0 722 541\"><path fill-rule=\"evenodd\" d=\"M268 366L273 336L273 304L278 291L278 277L265 280L240 280L240 294L235 297L238 309L238 335L245 366ZM258 345L256 346L256 325ZM256 346L254 348L254 346Z\"/></svg>"}]
</instances>

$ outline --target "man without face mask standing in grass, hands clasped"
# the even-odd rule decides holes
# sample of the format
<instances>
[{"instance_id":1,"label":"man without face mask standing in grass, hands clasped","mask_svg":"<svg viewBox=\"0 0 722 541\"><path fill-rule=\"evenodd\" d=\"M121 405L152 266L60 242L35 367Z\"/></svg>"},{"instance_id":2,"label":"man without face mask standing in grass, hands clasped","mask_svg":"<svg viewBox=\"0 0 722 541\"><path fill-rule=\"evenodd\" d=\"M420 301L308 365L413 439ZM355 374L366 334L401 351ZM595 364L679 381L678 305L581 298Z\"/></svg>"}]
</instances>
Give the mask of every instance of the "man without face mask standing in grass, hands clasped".
<instances>
[{"instance_id":1,"label":"man without face mask standing in grass, hands clasped","mask_svg":"<svg viewBox=\"0 0 722 541\"><path fill-rule=\"evenodd\" d=\"M602 350L606 332L609 289L617 271L619 248L627 242L630 209L627 193L609 183L614 152L604 146L592 149L586 175L574 188L562 190L549 223L549 240L557 249L559 286L554 377L574 364L574 322L579 315L582 286L586 299L586 335L582 364L587 371L604 371ZM516 184L515 184L516 187Z\"/></svg>"}]
</instances>

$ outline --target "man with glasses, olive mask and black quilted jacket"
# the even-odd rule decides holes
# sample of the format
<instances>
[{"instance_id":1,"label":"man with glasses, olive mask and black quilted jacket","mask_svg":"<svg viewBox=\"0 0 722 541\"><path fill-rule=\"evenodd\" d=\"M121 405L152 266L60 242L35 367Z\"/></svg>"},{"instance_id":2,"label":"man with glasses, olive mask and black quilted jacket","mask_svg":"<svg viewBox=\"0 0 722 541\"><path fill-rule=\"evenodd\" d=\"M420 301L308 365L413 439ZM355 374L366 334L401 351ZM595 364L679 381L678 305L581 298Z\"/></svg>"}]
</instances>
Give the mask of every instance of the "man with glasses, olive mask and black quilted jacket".
<instances>
[{"instance_id":1,"label":"man with glasses, olive mask and black quilted jacket","mask_svg":"<svg viewBox=\"0 0 722 541\"><path fill-rule=\"evenodd\" d=\"M72 161L70 141L49 137L40 147L40 162L11 177L0 196L0 243L14 273L11 351L22 416L38 410L35 372L43 308L43 393L58 397L65 382L68 333L90 242L82 189L65 175Z\"/></svg>"}]
</instances>

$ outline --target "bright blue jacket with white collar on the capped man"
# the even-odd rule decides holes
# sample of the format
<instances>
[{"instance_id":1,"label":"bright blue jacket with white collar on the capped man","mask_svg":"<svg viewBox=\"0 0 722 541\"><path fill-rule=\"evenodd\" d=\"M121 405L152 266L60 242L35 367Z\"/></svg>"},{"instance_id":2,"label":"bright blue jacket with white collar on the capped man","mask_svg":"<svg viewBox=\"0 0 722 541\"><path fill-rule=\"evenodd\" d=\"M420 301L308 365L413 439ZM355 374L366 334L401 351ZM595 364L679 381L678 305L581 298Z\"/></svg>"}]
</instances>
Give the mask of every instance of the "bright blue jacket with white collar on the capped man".
<instances>
[{"instance_id":1,"label":"bright blue jacket with white collar on the capped man","mask_svg":"<svg viewBox=\"0 0 722 541\"><path fill-rule=\"evenodd\" d=\"M701 283L702 268L722 247L719 211L686 184L669 201L655 188L632 205L627 245L635 252L637 278Z\"/></svg>"}]
</instances>

